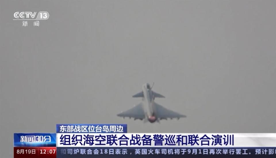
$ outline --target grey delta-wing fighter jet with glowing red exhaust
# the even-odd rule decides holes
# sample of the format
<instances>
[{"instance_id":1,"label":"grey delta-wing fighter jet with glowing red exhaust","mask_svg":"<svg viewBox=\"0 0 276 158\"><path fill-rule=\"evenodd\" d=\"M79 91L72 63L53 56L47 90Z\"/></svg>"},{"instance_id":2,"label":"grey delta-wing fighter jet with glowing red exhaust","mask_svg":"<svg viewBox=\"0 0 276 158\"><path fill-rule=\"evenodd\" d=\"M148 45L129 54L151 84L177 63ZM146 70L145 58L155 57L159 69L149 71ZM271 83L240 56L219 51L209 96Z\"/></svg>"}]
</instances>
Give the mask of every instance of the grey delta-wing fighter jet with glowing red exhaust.
<instances>
[{"instance_id":1,"label":"grey delta-wing fighter jet with glowing red exhaust","mask_svg":"<svg viewBox=\"0 0 276 158\"><path fill-rule=\"evenodd\" d=\"M153 85L152 85L153 87ZM158 94L152 91L152 87L150 84L146 83L142 86L142 92L133 95L132 97L141 97L142 102L135 105L133 108L119 113L117 116L119 117L133 117L134 120L144 120L144 122L149 121L150 123L159 122L159 120L168 118L173 119L177 118L179 120L180 117L186 117L185 115L181 115L177 112L166 109L165 107L154 102L155 98L165 98L163 95Z\"/></svg>"}]
</instances>

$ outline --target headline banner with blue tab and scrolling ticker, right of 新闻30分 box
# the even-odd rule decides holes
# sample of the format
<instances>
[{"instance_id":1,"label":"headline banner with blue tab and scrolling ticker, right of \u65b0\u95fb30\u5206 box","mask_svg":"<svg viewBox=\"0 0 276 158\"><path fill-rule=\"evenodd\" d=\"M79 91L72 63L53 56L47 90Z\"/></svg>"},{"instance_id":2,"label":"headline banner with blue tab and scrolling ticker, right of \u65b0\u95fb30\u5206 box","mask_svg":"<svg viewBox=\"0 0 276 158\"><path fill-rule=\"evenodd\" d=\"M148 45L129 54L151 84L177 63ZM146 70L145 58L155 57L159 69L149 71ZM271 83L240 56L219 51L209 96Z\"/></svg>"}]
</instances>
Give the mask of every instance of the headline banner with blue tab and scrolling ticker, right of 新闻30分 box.
<instances>
[{"instance_id":1,"label":"headline banner with blue tab and scrolling ticker, right of \u65b0\u95fb30\u5206 box","mask_svg":"<svg viewBox=\"0 0 276 158\"><path fill-rule=\"evenodd\" d=\"M127 133L126 124L58 124L57 158L276 157L276 134Z\"/></svg>"}]
</instances>

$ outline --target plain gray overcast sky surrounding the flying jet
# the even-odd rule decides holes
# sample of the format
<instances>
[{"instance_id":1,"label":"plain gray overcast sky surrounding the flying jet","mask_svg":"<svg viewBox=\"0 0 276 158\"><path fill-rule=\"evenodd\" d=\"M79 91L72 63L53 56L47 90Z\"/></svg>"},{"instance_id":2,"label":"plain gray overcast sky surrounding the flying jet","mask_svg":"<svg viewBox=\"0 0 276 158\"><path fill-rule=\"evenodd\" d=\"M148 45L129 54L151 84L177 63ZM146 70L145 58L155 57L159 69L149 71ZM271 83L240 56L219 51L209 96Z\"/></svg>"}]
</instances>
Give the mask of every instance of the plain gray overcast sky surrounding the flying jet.
<instances>
[{"instance_id":1,"label":"plain gray overcast sky surrounding the flying jet","mask_svg":"<svg viewBox=\"0 0 276 158\"><path fill-rule=\"evenodd\" d=\"M16 11L48 11L34 27ZM0 2L0 157L13 133L60 123L128 132L276 132L276 1ZM187 118L143 124L116 114L156 102Z\"/></svg>"}]
</instances>

